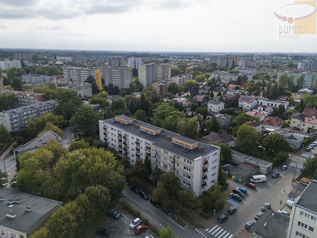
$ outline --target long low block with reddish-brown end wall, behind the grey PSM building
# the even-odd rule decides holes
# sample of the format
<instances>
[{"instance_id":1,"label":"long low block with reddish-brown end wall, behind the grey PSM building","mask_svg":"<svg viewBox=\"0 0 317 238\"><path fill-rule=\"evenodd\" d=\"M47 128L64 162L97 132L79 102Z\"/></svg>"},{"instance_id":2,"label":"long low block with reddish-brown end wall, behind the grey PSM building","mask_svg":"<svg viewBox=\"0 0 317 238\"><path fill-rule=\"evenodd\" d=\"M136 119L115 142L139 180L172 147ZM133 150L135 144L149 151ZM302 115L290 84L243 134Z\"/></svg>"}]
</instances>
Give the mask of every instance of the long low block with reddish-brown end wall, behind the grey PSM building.
<instances>
[{"instance_id":1,"label":"long low block with reddish-brown end wall, behind the grey PSM building","mask_svg":"<svg viewBox=\"0 0 317 238\"><path fill-rule=\"evenodd\" d=\"M15 94L18 98L18 104L16 107L23 107L35 103L45 102L43 93L30 93L28 91L14 91L14 90L1 90L2 94Z\"/></svg>"}]
</instances>

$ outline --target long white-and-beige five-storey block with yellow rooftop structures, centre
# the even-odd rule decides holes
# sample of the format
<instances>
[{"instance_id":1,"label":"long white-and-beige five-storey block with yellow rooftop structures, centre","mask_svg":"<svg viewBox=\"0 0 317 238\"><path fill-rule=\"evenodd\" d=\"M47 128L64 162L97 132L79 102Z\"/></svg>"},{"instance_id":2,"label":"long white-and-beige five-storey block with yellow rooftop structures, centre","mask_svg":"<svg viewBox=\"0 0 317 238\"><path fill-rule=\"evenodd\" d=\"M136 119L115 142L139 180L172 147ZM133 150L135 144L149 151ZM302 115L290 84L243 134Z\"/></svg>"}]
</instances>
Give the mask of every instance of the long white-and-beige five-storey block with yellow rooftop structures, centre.
<instances>
[{"instance_id":1,"label":"long white-and-beige five-storey block with yellow rooftop structures, centre","mask_svg":"<svg viewBox=\"0 0 317 238\"><path fill-rule=\"evenodd\" d=\"M127 154L131 164L149 156L153 170L172 171L182 188L194 191L197 196L217 182L219 147L124 115L100 120L99 136L119 155Z\"/></svg>"}]
</instances>

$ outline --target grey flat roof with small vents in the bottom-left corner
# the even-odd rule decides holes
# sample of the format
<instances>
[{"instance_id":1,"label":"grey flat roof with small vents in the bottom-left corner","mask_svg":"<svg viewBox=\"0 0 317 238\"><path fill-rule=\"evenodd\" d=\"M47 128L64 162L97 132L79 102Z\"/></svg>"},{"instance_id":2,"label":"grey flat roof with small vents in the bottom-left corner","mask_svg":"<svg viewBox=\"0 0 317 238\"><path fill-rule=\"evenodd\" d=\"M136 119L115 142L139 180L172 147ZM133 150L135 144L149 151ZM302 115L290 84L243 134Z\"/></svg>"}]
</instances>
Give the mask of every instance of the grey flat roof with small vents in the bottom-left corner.
<instances>
[{"instance_id":1,"label":"grey flat roof with small vents in the bottom-left corner","mask_svg":"<svg viewBox=\"0 0 317 238\"><path fill-rule=\"evenodd\" d=\"M0 225L25 233L62 205L62 202L1 187L0 197L5 199L0 201ZM10 199L21 202L10 204L8 203ZM26 211L26 207L31 207L32 210ZM11 213L16 214L15 218L6 217L6 213L10 210Z\"/></svg>"}]
</instances>

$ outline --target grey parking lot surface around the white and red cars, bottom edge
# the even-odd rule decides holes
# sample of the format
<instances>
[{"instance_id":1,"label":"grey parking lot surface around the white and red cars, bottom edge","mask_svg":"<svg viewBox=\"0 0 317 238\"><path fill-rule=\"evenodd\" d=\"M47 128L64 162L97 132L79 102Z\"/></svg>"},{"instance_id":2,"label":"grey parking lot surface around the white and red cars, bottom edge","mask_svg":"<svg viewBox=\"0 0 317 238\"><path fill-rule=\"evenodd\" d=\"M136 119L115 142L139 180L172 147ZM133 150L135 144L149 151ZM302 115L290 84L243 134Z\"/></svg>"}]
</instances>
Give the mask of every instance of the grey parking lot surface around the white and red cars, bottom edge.
<instances>
[{"instance_id":1,"label":"grey parking lot surface around the white and red cars, bottom edge","mask_svg":"<svg viewBox=\"0 0 317 238\"><path fill-rule=\"evenodd\" d=\"M115 207L115 210L120 213L119 219L113 219L110 216L107 216L102 223L99 225L99 227L107 228L110 231L110 236L113 238L122 238L126 236L135 236L138 238L144 238L148 235L152 235L151 231L149 229L145 230L141 234L137 235L134 233L133 229L129 228L130 223L136 218L130 215L128 212L120 208L120 205ZM141 224L143 224L141 222ZM146 224L148 225L148 224ZM100 238L103 237L102 235L92 235L92 238Z\"/></svg>"}]
</instances>

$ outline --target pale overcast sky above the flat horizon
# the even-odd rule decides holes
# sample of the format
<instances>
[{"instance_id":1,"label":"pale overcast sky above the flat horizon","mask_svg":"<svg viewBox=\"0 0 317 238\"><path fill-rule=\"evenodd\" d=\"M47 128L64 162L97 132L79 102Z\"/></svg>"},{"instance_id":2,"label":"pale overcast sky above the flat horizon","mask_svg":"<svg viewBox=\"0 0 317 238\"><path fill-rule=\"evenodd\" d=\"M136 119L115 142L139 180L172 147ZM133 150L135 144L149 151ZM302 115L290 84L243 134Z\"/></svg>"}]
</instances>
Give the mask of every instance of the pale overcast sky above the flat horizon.
<instances>
[{"instance_id":1,"label":"pale overcast sky above the flat horizon","mask_svg":"<svg viewBox=\"0 0 317 238\"><path fill-rule=\"evenodd\" d=\"M274 39L275 8L294 1L275 2L0 0L0 47L316 52L316 39Z\"/></svg>"}]
</instances>

